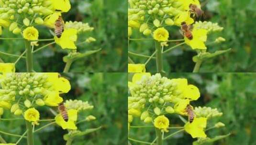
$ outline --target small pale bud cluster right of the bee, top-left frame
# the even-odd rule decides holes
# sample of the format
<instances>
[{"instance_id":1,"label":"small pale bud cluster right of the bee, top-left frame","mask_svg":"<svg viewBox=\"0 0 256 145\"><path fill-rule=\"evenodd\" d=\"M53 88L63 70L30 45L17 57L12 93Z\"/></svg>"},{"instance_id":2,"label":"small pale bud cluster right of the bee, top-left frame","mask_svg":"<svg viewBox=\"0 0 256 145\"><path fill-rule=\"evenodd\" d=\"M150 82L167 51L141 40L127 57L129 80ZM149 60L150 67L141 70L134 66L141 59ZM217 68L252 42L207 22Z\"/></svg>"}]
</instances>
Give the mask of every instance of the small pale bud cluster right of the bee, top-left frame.
<instances>
[{"instance_id":1,"label":"small pale bud cluster right of the bee, top-left frame","mask_svg":"<svg viewBox=\"0 0 256 145\"><path fill-rule=\"evenodd\" d=\"M93 31L94 28L90 27L88 23L78 22L78 21L67 21L65 23L67 29L73 28L78 31L78 33Z\"/></svg>"}]
</instances>

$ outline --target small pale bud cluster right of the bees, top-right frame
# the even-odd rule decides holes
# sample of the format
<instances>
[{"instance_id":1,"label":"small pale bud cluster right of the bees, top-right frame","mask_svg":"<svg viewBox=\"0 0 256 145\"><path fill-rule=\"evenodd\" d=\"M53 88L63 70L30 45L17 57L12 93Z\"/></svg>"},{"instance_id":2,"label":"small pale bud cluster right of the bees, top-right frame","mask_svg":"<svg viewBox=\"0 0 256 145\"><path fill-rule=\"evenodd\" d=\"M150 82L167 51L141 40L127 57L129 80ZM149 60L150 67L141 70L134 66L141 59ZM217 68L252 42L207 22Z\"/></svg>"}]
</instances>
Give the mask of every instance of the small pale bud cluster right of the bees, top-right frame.
<instances>
[{"instance_id":1,"label":"small pale bud cluster right of the bees, top-right frame","mask_svg":"<svg viewBox=\"0 0 256 145\"><path fill-rule=\"evenodd\" d=\"M207 32L223 31L223 27L218 23L212 23L211 21L196 21L193 24L193 29L205 29Z\"/></svg>"}]
</instances>

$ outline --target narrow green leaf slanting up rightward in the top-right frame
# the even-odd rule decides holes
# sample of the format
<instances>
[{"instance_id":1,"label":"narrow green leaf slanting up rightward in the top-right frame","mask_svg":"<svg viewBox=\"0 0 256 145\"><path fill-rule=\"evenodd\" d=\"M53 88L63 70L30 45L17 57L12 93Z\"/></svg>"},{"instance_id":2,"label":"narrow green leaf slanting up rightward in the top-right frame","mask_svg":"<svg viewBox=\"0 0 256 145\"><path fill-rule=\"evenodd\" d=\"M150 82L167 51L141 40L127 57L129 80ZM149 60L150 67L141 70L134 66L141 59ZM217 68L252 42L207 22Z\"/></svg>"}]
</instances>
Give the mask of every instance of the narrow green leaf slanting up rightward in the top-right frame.
<instances>
[{"instance_id":1,"label":"narrow green leaf slanting up rightward in the top-right frame","mask_svg":"<svg viewBox=\"0 0 256 145\"><path fill-rule=\"evenodd\" d=\"M206 59L209 59L209 58L221 55L223 53L229 52L230 50L231 50L231 48L227 49L227 50L216 51L216 52L213 52L213 53L206 52L206 53L194 56L192 58L192 60L193 60L193 62L198 62L199 60L203 61L203 60L206 60Z\"/></svg>"}]
</instances>

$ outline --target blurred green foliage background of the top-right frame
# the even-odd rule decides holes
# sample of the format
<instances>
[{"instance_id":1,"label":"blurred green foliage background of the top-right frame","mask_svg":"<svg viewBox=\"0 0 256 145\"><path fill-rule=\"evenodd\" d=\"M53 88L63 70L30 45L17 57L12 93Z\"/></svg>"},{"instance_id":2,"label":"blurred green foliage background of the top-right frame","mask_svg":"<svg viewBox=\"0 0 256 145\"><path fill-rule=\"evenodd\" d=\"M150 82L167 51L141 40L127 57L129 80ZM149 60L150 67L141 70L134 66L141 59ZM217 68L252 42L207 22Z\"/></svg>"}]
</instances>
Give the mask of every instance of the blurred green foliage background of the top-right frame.
<instances>
[{"instance_id":1,"label":"blurred green foliage background of the top-right frame","mask_svg":"<svg viewBox=\"0 0 256 145\"><path fill-rule=\"evenodd\" d=\"M256 0L200 0L204 18L202 21L219 23L222 32L208 36L209 42L221 36L226 39L221 44L208 46L208 52L226 50L230 52L204 61L200 72L255 72L256 71ZM179 28L169 28L170 39L181 39ZM145 38L133 31L131 38ZM129 51L151 55L154 51L153 41L130 41ZM178 43L176 43L178 44ZM170 43L169 47L175 43ZM168 49L169 47L166 47ZM196 55L189 46L182 45L164 54L166 72L192 72L195 65L192 57ZM129 55L135 63L144 63L147 58ZM156 72L156 62L152 59L146 66L147 72Z\"/></svg>"}]
</instances>

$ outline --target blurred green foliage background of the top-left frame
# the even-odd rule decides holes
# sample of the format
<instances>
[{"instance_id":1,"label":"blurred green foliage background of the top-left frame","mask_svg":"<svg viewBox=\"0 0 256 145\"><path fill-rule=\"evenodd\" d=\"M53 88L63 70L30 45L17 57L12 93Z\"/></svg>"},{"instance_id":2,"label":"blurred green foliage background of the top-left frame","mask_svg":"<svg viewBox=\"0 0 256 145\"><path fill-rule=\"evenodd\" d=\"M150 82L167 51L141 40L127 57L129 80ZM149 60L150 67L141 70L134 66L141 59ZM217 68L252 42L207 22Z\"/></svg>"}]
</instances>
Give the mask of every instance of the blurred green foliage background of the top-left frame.
<instances>
[{"instance_id":1,"label":"blurred green foliage background of the top-left frame","mask_svg":"<svg viewBox=\"0 0 256 145\"><path fill-rule=\"evenodd\" d=\"M78 36L78 43L88 37L97 41L83 43L78 52L102 49L96 54L80 59L72 64L70 72L126 72L127 70L127 1L125 0L70 0L71 9L63 13L64 21L82 21L94 27L92 32ZM53 38L46 27L36 27L39 39ZM1 37L20 37L4 30ZM47 42L40 42L40 46ZM35 48L36 49L36 48ZM16 55L25 50L22 40L1 40L0 51ZM50 45L34 55L36 72L63 72L67 55L58 45ZM0 54L4 62L15 62L17 58ZM25 60L16 64L16 72L26 72Z\"/></svg>"}]
</instances>

